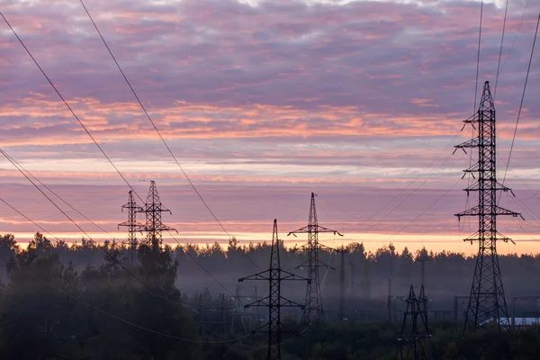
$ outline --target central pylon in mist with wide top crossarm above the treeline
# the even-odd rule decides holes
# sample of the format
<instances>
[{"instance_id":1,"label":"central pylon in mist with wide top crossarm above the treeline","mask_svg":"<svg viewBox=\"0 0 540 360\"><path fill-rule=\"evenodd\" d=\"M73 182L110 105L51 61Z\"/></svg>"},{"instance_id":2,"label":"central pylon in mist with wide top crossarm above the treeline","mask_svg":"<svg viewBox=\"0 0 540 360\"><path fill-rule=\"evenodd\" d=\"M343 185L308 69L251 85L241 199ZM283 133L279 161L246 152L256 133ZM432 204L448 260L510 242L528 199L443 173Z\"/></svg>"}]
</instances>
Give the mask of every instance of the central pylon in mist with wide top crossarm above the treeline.
<instances>
[{"instance_id":1,"label":"central pylon in mist with wide top crossarm above the treeline","mask_svg":"<svg viewBox=\"0 0 540 360\"><path fill-rule=\"evenodd\" d=\"M308 267L308 286L306 289L306 302L302 312L302 323L309 324L310 322L319 322L321 325L326 323L326 317L322 307L322 294L320 292L320 280L319 280L319 268L331 267L319 260L319 250L321 248L319 244L320 232L333 232L334 235L341 235L338 230L328 229L320 226L317 221L317 209L315 208L315 193L311 193L311 205L310 205L310 219L308 226L304 226L301 229L296 229L287 234L287 236L293 234L307 233L308 234L308 261L302 263L298 267Z\"/></svg>"}]
</instances>

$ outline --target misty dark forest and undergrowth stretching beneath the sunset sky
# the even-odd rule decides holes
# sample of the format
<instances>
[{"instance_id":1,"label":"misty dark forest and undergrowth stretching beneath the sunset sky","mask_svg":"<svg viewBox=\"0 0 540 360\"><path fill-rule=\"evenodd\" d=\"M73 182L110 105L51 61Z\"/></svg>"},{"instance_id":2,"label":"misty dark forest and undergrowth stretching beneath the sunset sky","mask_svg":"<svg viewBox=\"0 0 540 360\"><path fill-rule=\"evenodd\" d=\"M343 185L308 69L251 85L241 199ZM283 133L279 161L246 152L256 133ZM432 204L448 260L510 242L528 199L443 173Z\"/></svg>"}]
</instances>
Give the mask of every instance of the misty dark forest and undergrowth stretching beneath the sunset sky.
<instances>
[{"instance_id":1,"label":"misty dark forest and undergrowth stretching beneath the sunset sky","mask_svg":"<svg viewBox=\"0 0 540 360\"><path fill-rule=\"evenodd\" d=\"M301 312L284 310L285 359L391 359L408 289L421 283L424 259L428 319L434 358L536 358L536 327L462 338L474 257L424 249L396 251L392 244L366 252L347 246L344 319L338 319L339 257L321 251L329 264L320 272L328 327L300 323ZM198 247L141 244L131 264L127 248L81 239L51 242L37 233L26 248L12 235L0 238L2 287L0 357L20 359L262 359L264 334L251 330L266 321L264 308L243 304L266 296L267 285L238 278L267 266L270 245L240 246L232 239ZM281 247L284 269L302 275L302 248ZM540 257L500 256L509 311L538 317L535 296ZM202 269L206 269L208 273ZM213 277L213 278L212 278ZM285 284L289 299L303 302L305 287ZM390 293L389 293L390 292ZM390 295L390 296L389 296ZM479 347L479 344L482 346ZM526 346L527 345L527 346Z\"/></svg>"}]
</instances>

